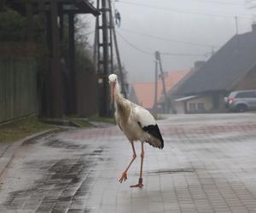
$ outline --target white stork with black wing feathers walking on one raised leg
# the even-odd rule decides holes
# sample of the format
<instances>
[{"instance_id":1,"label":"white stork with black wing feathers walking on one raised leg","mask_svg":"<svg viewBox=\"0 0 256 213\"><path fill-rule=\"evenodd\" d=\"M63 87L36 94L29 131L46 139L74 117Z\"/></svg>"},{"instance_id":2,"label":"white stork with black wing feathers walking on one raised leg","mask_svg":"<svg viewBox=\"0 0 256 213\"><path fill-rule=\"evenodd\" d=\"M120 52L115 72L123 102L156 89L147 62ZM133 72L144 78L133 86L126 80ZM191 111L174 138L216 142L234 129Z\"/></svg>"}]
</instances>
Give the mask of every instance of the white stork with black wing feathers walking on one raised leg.
<instances>
[{"instance_id":1,"label":"white stork with black wing feathers walking on one raised leg","mask_svg":"<svg viewBox=\"0 0 256 213\"><path fill-rule=\"evenodd\" d=\"M139 181L136 185L131 187L143 187L143 158L144 158L144 142L148 142L153 147L158 147L162 149L164 147L164 140L160 134L158 125L156 124L154 117L148 110L144 109L126 100L119 91L119 83L117 75L111 74L108 77L109 83L111 85L111 97L112 101L115 103L115 119L119 128L125 133L125 136L131 142L133 157L131 158L130 164L128 164L125 171L122 173L119 182L127 180L127 171L129 170L132 162L137 157L134 148L134 141L142 142L142 152L141 152L141 170ZM145 94L146 95L146 94Z\"/></svg>"}]
</instances>

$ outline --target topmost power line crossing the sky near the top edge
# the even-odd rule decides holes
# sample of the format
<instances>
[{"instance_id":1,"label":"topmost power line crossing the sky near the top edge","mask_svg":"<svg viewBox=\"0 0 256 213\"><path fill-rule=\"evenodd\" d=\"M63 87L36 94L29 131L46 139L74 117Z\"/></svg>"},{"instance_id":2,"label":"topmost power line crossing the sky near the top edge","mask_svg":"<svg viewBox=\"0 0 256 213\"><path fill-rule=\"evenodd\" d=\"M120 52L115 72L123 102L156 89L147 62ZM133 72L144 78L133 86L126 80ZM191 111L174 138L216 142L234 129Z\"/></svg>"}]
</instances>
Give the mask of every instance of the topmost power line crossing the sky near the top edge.
<instances>
[{"instance_id":1,"label":"topmost power line crossing the sky near the top edge","mask_svg":"<svg viewBox=\"0 0 256 213\"><path fill-rule=\"evenodd\" d=\"M139 7L143 7L143 8L150 8L150 9L160 9L160 10L168 10L168 11L172 11L174 13L179 13L179 14L197 14L197 15L204 15L204 16L208 16L208 17L217 17L217 18L232 18L234 19L235 16L237 16L240 19L246 19L246 20L251 20L250 17L247 16L238 16L236 14L234 15L226 15L226 14L204 14L204 13L196 13L196 12L189 12L189 11L185 11L185 10L179 10L179 9L172 9L169 7L163 8L163 7L158 7L155 5L149 5L149 4L143 4L143 3L131 3L131 2L125 2L125 1L119 1L117 3L125 3L125 4L131 4L134 6L139 6Z\"/></svg>"}]
</instances>

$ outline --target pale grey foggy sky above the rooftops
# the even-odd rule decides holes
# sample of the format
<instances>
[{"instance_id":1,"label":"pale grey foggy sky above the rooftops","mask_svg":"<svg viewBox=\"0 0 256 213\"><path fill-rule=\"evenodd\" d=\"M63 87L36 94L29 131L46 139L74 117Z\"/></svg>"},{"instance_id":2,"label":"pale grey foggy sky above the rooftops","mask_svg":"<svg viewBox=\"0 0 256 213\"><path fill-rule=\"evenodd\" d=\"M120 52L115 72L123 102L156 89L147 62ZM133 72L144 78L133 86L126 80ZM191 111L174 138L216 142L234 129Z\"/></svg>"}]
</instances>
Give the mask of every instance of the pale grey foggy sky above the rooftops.
<instances>
[{"instance_id":1,"label":"pale grey foggy sky above the rooftops","mask_svg":"<svg viewBox=\"0 0 256 213\"><path fill-rule=\"evenodd\" d=\"M195 55L163 55L163 68L168 72L190 68L195 60L207 60L212 47L218 50L236 34L235 16L238 16L238 32L243 33L251 31L255 12L248 9L251 4L244 0L119 0L114 5L121 14L121 26L116 29L121 59L130 82L154 80L155 50ZM180 42L160 40L150 35Z\"/></svg>"}]
</instances>

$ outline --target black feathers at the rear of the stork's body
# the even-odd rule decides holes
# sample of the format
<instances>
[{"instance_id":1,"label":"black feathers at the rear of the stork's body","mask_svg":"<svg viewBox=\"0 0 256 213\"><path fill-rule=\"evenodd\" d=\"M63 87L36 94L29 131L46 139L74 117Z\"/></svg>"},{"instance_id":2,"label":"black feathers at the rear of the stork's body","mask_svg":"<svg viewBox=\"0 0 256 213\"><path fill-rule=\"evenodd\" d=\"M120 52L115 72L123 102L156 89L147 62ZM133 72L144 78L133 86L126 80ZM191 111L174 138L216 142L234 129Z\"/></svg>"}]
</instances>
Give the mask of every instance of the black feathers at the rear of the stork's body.
<instances>
[{"instance_id":1,"label":"black feathers at the rear of the stork's body","mask_svg":"<svg viewBox=\"0 0 256 213\"><path fill-rule=\"evenodd\" d=\"M164 147L164 140L160 134L160 130L157 124L144 126L143 130L151 135L151 137L146 142L148 142L151 146L158 147L160 149Z\"/></svg>"}]
</instances>

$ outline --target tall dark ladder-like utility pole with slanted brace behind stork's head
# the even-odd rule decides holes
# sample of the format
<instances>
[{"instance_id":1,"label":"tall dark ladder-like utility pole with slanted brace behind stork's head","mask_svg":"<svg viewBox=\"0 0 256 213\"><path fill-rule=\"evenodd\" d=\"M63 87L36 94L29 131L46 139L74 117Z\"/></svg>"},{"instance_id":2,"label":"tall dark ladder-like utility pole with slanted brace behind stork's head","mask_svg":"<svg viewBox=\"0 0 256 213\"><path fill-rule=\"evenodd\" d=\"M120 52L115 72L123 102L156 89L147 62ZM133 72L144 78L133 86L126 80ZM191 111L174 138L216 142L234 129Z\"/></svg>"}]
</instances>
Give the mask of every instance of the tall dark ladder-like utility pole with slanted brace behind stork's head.
<instances>
[{"instance_id":1,"label":"tall dark ladder-like utility pole with slanted brace behind stork's head","mask_svg":"<svg viewBox=\"0 0 256 213\"><path fill-rule=\"evenodd\" d=\"M125 79L119 55L119 48L113 24L111 0L97 0L96 9L102 12L101 17L96 18L96 34L94 46L94 62L98 75L99 91L99 114L102 117L109 117L112 113L110 104L110 89L108 75L113 72L113 44L119 66L119 78L122 93L127 97Z\"/></svg>"}]
</instances>

